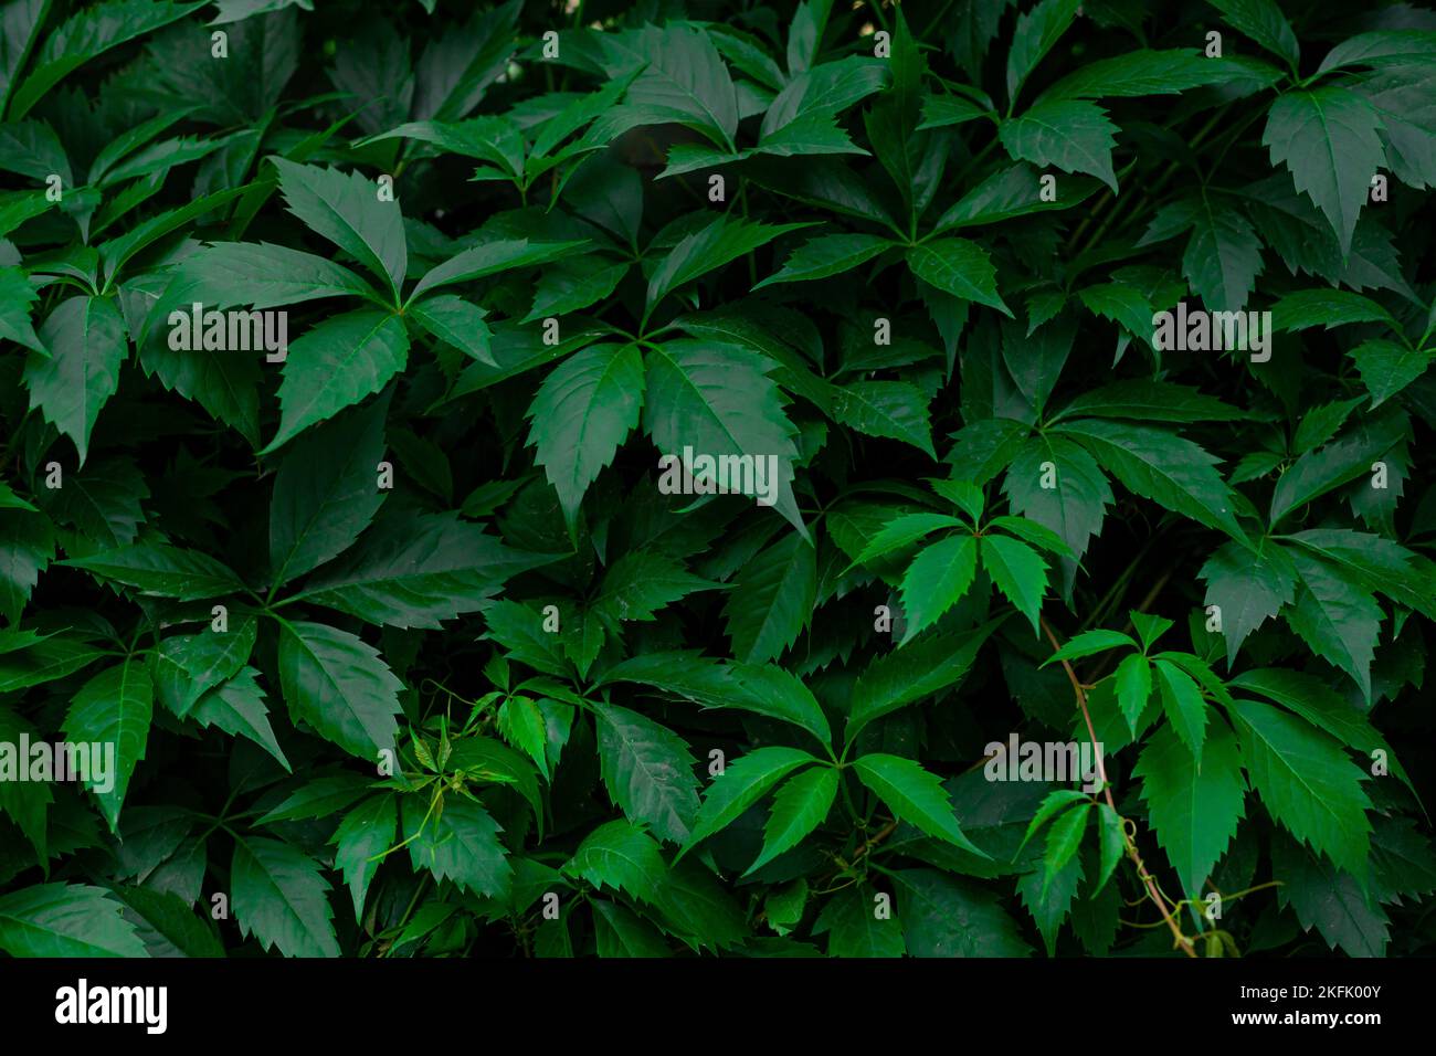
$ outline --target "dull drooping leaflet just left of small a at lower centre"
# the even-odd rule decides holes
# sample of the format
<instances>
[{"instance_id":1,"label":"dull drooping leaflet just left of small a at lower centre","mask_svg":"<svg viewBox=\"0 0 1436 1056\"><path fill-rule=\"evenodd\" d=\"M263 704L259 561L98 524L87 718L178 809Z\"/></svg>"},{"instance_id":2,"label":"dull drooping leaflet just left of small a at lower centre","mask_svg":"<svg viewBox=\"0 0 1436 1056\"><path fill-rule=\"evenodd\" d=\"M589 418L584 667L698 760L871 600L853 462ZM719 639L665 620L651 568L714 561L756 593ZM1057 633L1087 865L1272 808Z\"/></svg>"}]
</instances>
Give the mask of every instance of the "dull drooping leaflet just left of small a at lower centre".
<instances>
[{"instance_id":1,"label":"dull drooping leaflet just left of small a at lower centre","mask_svg":"<svg viewBox=\"0 0 1436 1056\"><path fill-rule=\"evenodd\" d=\"M672 730L616 704L597 710L603 783L630 820L682 843L698 815L695 759Z\"/></svg>"}]
</instances>

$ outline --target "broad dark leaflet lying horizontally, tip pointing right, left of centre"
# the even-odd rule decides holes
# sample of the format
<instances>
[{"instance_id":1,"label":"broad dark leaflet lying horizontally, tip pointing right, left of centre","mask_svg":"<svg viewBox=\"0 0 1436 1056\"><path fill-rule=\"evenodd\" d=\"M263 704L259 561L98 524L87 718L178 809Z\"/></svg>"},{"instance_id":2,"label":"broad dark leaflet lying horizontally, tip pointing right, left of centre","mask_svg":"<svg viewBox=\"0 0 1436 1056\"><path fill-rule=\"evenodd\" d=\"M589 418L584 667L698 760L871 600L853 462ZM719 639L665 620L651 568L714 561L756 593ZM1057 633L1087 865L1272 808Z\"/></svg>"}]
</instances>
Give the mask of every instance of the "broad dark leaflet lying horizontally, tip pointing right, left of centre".
<instances>
[{"instance_id":1,"label":"broad dark leaflet lying horizontally, tip pointing right, left of centre","mask_svg":"<svg viewBox=\"0 0 1436 1056\"><path fill-rule=\"evenodd\" d=\"M438 628L553 555L511 550L457 513L382 517L297 595L370 624Z\"/></svg>"}]
</instances>

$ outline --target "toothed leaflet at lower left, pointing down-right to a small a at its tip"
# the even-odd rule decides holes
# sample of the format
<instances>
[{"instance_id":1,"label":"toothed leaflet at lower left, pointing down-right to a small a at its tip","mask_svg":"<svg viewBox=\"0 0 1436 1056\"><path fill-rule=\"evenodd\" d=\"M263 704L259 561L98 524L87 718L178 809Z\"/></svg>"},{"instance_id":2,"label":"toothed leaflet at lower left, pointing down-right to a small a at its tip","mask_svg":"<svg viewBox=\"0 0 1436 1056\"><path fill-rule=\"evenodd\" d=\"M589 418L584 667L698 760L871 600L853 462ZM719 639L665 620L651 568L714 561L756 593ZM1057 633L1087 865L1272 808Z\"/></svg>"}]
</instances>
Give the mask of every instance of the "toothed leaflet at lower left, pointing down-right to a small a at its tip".
<instances>
[{"instance_id":1,"label":"toothed leaflet at lower left, pointing down-right to a small a at its tip","mask_svg":"<svg viewBox=\"0 0 1436 1056\"><path fill-rule=\"evenodd\" d=\"M294 721L370 763L393 749L402 682L355 635L323 624L281 624L279 678Z\"/></svg>"}]
</instances>

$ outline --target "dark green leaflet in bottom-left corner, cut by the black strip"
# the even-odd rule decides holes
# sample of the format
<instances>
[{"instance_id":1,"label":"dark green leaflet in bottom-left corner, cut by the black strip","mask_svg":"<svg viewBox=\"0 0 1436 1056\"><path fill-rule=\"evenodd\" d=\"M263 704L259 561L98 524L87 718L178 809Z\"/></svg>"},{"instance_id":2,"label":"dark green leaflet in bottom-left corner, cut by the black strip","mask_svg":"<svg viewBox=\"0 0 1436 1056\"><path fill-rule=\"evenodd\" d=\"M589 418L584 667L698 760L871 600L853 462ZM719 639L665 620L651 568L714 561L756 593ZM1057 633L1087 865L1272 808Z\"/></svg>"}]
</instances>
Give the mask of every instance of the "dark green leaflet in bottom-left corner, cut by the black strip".
<instances>
[{"instance_id":1,"label":"dark green leaflet in bottom-left corner, cut by the black strip","mask_svg":"<svg viewBox=\"0 0 1436 1056\"><path fill-rule=\"evenodd\" d=\"M36 884L0 895L0 950L11 957L145 957L103 888Z\"/></svg>"}]
</instances>

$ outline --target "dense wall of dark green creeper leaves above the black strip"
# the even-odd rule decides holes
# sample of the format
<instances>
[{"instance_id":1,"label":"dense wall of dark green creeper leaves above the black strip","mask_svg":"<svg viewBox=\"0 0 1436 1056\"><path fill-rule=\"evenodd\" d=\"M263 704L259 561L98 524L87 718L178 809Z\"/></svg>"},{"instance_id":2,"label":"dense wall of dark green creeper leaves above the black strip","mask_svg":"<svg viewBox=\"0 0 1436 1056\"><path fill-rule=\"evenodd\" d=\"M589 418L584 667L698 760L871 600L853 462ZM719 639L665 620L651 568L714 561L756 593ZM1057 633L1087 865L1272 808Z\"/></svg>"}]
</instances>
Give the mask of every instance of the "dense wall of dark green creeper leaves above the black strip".
<instances>
[{"instance_id":1,"label":"dense wall of dark green creeper leaves above the black strip","mask_svg":"<svg viewBox=\"0 0 1436 1056\"><path fill-rule=\"evenodd\" d=\"M1430 11L0 45L0 950L1432 948Z\"/></svg>"}]
</instances>

